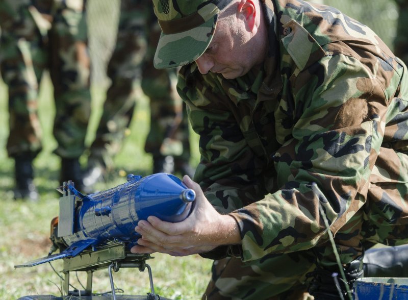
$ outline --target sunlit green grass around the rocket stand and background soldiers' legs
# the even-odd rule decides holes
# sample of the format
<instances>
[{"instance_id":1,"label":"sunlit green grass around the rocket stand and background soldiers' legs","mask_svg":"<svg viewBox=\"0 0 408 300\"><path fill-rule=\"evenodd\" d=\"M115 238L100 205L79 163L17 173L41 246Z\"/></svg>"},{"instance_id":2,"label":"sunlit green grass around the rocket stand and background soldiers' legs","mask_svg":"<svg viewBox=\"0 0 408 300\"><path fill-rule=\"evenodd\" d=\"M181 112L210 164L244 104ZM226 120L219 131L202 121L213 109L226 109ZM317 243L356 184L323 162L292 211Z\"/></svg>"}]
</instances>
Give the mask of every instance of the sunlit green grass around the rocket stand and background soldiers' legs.
<instances>
[{"instance_id":1,"label":"sunlit green grass around the rocket stand and background soldiers' legs","mask_svg":"<svg viewBox=\"0 0 408 300\"><path fill-rule=\"evenodd\" d=\"M101 102L105 88L92 88L93 109L90 119L87 143L92 141L96 123L100 116ZM17 299L24 295L59 295L61 282L48 264L31 268L14 269L14 265L31 261L47 255L49 251L50 220L58 215L59 158L54 155L56 142L52 136L54 104L52 88L47 78L41 86L39 115L43 128L43 151L35 159L35 183L40 192L38 203L14 201L11 192L14 185L14 162L7 157L5 150L8 136L7 88L0 83L0 299ZM149 108L147 100L141 95L132 121L130 135L125 139L121 152L115 157L116 169L109 181L100 183L97 189L107 189L124 183L119 174L132 172L143 176L151 173L151 157L144 153L143 143L149 129ZM197 163L197 137L192 135L192 163ZM85 165L86 158L81 162ZM155 290L161 296L172 299L198 299L210 279L211 261L198 255L174 258L155 254L149 260L152 268ZM62 270L62 262L53 263L57 271ZM82 284L85 274L79 272ZM114 273L115 284L125 294L145 295L149 291L147 272L138 269L121 269ZM80 283L71 275L71 284L81 289ZM94 273L93 290L110 290L107 270Z\"/></svg>"}]
</instances>

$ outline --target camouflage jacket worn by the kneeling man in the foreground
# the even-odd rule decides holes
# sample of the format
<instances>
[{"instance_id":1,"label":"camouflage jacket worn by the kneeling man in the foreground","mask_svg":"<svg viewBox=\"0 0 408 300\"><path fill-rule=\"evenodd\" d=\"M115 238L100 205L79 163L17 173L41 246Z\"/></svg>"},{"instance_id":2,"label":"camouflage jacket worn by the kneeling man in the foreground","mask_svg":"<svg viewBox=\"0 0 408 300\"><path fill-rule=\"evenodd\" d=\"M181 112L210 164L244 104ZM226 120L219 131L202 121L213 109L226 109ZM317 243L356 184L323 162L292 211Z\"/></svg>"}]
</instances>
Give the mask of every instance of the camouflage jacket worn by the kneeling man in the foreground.
<instances>
[{"instance_id":1,"label":"camouflage jacket worn by the kneeling man in the foreground","mask_svg":"<svg viewBox=\"0 0 408 300\"><path fill-rule=\"evenodd\" d=\"M271 1L263 71L225 80L192 63L179 76L200 135L194 179L239 224L228 251L249 261L327 241L319 207L334 234L387 242L381 224L403 222L408 200L406 67L334 8L273 0L273 14Z\"/></svg>"}]
</instances>

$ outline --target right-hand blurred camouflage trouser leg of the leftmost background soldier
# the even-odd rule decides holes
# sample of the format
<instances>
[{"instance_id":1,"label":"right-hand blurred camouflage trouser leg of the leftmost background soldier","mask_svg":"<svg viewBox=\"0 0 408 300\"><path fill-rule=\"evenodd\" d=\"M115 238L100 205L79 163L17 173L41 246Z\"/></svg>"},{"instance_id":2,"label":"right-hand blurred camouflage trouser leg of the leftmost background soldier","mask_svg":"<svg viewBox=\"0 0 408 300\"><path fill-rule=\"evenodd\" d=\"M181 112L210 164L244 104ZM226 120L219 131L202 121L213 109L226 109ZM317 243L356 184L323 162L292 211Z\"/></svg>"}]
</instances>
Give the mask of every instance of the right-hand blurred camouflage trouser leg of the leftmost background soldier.
<instances>
[{"instance_id":1,"label":"right-hand blurred camouflage trouser leg of the leftmost background soldier","mask_svg":"<svg viewBox=\"0 0 408 300\"><path fill-rule=\"evenodd\" d=\"M49 72L54 84L56 118L55 153L80 157L90 116L90 59L83 0L56 0L49 31Z\"/></svg>"}]
</instances>

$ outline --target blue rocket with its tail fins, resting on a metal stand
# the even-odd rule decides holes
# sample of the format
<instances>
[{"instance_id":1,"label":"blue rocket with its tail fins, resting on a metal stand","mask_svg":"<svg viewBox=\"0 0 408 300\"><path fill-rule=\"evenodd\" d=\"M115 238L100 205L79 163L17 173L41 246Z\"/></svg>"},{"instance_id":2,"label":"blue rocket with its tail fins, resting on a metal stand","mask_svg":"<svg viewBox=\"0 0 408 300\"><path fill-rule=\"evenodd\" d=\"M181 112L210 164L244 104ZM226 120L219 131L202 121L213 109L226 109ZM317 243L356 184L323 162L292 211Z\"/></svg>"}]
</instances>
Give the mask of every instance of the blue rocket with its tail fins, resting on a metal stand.
<instances>
[{"instance_id":1,"label":"blue rocket with its tail fins, resting on a metal stand","mask_svg":"<svg viewBox=\"0 0 408 300\"><path fill-rule=\"evenodd\" d=\"M116 242L124 242L130 249L140 238L135 232L139 220L156 216L168 222L182 221L189 215L195 200L192 189L167 173L146 177L130 174L126 183L89 195L83 195L68 182L63 192L58 227L51 236L60 250L63 245L62 251L15 267L75 257L91 247Z\"/></svg>"}]
</instances>

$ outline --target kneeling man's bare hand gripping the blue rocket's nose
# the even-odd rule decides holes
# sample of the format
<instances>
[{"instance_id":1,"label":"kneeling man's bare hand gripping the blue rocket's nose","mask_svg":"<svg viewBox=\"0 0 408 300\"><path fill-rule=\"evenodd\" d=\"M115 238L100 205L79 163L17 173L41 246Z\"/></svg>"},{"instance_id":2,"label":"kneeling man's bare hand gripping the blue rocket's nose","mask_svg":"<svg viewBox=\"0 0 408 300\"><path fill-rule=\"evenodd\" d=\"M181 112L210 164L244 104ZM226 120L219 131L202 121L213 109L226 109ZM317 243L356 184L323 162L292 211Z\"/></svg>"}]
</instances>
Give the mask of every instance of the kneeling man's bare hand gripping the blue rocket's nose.
<instances>
[{"instance_id":1,"label":"kneeling man's bare hand gripping the blue rocket's nose","mask_svg":"<svg viewBox=\"0 0 408 300\"><path fill-rule=\"evenodd\" d=\"M140 220L135 231L142 235L132 253L167 253L186 256L208 252L217 246L241 242L238 224L230 215L219 214L200 186L190 177L183 182L196 193L194 208L184 221L171 223L149 216Z\"/></svg>"}]
</instances>

